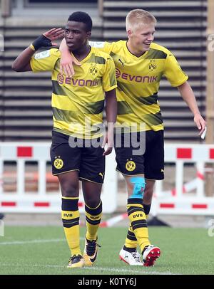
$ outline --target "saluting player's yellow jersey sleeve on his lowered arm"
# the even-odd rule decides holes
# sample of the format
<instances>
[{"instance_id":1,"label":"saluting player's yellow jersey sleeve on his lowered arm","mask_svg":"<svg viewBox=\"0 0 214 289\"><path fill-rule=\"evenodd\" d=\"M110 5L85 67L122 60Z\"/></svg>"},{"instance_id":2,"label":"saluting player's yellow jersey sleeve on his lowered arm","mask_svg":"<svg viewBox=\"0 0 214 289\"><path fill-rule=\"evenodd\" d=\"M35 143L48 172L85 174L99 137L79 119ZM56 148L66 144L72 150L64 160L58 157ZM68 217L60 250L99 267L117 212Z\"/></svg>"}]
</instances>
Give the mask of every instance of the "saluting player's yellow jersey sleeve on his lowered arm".
<instances>
[{"instance_id":1,"label":"saluting player's yellow jersey sleeve on his lowered arm","mask_svg":"<svg viewBox=\"0 0 214 289\"><path fill-rule=\"evenodd\" d=\"M103 90L110 91L117 87L115 64L111 56L106 59L106 67L103 73Z\"/></svg>"}]
</instances>

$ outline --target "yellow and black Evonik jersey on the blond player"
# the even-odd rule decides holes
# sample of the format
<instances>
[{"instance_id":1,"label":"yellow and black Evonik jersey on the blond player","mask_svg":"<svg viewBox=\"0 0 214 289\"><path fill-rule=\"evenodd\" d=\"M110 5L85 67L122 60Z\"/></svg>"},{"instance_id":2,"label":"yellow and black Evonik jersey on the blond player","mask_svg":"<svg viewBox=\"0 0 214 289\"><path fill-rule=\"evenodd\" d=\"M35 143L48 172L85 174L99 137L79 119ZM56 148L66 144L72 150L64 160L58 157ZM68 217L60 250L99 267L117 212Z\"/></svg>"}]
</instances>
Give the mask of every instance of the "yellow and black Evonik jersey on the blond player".
<instances>
[{"instance_id":1,"label":"yellow and black Evonik jersey on the blond player","mask_svg":"<svg viewBox=\"0 0 214 289\"><path fill-rule=\"evenodd\" d=\"M173 53L156 43L140 57L128 51L126 41L90 42L90 45L108 53L116 65L117 124L132 125L132 131L134 127L137 127L136 131L163 130L158 103L161 77L165 75L172 86L188 80Z\"/></svg>"}]
</instances>

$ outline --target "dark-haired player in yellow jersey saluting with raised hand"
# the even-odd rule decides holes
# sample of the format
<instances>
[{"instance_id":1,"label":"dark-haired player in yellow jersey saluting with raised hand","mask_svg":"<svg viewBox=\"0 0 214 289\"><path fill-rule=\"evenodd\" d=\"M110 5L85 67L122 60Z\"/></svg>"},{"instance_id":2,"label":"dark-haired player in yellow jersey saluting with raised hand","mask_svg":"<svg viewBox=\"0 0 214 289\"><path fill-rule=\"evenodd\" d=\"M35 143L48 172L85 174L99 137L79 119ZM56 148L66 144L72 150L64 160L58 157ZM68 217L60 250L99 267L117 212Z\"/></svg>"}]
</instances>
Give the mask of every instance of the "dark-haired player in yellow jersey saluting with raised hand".
<instances>
[{"instance_id":1,"label":"dark-haired player in yellow jersey saluting with raised hand","mask_svg":"<svg viewBox=\"0 0 214 289\"><path fill-rule=\"evenodd\" d=\"M116 74L113 59L98 48L89 46L91 17L84 12L71 14L65 38L81 66L75 76L60 73L61 53L56 48L35 53L41 46L51 46L61 36L61 28L44 33L14 61L16 71L52 72L51 162L62 193L63 228L71 250L68 268L91 266L96 261L97 232L102 215L101 187L105 156L113 147L113 124L116 122ZM108 133L103 133L103 107L106 102ZM105 132L105 130L104 130ZM103 149L104 144L107 149ZM82 181L86 210L86 243L82 256L79 241L78 180Z\"/></svg>"}]
</instances>

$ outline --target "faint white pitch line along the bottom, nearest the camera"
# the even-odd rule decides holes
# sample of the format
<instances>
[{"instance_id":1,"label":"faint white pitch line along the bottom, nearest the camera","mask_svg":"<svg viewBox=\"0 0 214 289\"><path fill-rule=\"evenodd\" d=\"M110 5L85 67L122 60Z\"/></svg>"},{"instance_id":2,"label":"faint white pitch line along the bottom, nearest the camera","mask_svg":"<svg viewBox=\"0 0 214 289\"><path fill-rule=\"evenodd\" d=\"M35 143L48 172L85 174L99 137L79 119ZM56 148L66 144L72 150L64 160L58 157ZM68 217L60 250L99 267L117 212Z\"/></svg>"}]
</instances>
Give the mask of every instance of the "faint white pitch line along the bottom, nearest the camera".
<instances>
[{"instance_id":1,"label":"faint white pitch line along the bottom, nearest the camera","mask_svg":"<svg viewBox=\"0 0 214 289\"><path fill-rule=\"evenodd\" d=\"M1 266L9 266L9 267L17 267L17 264L4 264L4 263L0 263L0 267ZM29 264L29 265L21 265L21 267L27 267L27 268L32 268L32 267L44 267L44 268L62 268L62 269L66 269L66 270L72 270L72 273L75 273L73 269L70 268L66 268L66 266L58 266L58 265L43 265L43 264ZM145 275L180 275L177 273L171 273L171 272L157 272L157 271L148 271L148 270L131 270L131 268L127 268L127 269L118 269L118 268L105 268L105 267L83 267L81 268L81 270L91 270L91 271L101 271L101 272L113 272L113 273L137 273L137 274L145 274Z\"/></svg>"}]
</instances>

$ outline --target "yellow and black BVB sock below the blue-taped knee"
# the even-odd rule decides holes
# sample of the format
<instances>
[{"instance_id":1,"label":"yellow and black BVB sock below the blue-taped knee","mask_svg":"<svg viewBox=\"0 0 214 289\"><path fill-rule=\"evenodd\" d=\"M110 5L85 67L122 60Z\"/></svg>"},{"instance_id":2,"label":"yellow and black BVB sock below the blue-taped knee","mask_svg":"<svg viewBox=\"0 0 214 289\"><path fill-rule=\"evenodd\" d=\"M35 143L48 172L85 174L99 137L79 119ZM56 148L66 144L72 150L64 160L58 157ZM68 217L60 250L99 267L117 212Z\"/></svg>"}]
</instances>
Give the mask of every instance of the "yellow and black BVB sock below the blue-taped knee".
<instances>
[{"instance_id":1,"label":"yellow and black BVB sock below the blue-taped knee","mask_svg":"<svg viewBox=\"0 0 214 289\"><path fill-rule=\"evenodd\" d=\"M146 214L143 210L143 200L138 198L128 199L127 210L133 233L136 236L138 245L142 252L146 246L151 245L148 240L148 228L146 223Z\"/></svg>"}]
</instances>

